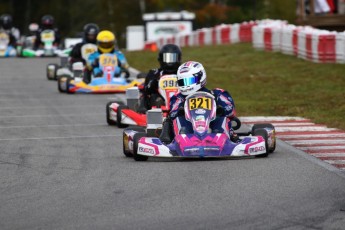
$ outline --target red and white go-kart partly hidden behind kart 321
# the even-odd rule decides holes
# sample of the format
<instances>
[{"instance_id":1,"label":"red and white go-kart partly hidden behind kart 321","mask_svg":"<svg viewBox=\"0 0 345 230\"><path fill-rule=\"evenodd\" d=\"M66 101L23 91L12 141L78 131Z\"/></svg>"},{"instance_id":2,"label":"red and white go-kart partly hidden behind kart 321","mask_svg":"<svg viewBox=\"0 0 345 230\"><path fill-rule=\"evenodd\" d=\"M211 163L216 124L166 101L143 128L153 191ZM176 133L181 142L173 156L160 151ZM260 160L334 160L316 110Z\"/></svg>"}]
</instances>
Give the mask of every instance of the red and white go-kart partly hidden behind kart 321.
<instances>
[{"instance_id":1,"label":"red and white go-kart partly hidden behind kart 321","mask_svg":"<svg viewBox=\"0 0 345 230\"><path fill-rule=\"evenodd\" d=\"M169 111L170 98L178 91L176 75L164 75L158 82L158 95L152 95L150 104L161 108L163 117ZM139 90L137 87L126 91L127 105L109 102L106 105L106 119L109 125L125 128L128 125L146 126L146 114L139 111Z\"/></svg>"}]
</instances>

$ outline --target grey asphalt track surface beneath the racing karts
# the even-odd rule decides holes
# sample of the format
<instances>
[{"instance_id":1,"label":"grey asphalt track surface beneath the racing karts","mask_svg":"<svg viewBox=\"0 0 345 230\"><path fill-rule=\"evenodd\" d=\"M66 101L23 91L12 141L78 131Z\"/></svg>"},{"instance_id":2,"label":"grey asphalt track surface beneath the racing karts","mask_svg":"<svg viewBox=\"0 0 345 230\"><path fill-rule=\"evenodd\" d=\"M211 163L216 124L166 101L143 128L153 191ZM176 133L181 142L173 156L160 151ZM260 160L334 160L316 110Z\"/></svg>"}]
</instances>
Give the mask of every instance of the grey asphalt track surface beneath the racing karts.
<instances>
[{"instance_id":1,"label":"grey asphalt track surface beneath the racing karts","mask_svg":"<svg viewBox=\"0 0 345 230\"><path fill-rule=\"evenodd\" d=\"M48 62L0 60L0 229L344 229L343 171L281 141L266 159L135 162L105 121L115 96L58 93Z\"/></svg>"}]
</instances>

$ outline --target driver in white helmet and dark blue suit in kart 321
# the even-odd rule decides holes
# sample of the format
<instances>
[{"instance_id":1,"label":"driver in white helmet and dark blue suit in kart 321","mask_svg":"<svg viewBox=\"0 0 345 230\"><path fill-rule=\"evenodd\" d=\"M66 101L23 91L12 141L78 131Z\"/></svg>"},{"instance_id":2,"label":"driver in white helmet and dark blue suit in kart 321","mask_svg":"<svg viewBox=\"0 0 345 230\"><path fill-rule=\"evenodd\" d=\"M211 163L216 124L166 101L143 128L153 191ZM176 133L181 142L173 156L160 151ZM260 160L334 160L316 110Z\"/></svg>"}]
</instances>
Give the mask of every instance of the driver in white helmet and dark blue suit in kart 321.
<instances>
[{"instance_id":1,"label":"driver in white helmet and dark blue suit in kart 321","mask_svg":"<svg viewBox=\"0 0 345 230\"><path fill-rule=\"evenodd\" d=\"M185 133L193 133L192 125L184 117L184 103L188 95L197 91L211 93L217 104L217 118L210 123L212 132L228 132L230 140L238 141L237 134L231 128L231 118L236 115L235 103L231 95L220 88L209 90L206 85L206 71L201 63L188 61L177 70L177 84L179 92L170 100L170 112L163 123L160 139L164 143L170 143L174 137L173 121L177 119L179 130Z\"/></svg>"}]
</instances>

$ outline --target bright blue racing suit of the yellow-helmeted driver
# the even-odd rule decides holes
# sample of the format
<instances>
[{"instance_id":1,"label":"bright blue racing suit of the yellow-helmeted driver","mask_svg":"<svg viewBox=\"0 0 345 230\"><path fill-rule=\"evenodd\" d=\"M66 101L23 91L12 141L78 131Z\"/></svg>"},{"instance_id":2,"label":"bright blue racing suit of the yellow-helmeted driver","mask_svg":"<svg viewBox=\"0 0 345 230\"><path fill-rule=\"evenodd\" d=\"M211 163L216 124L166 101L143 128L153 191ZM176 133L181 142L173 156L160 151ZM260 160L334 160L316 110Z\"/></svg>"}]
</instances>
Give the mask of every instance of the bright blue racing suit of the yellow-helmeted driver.
<instances>
[{"instance_id":1,"label":"bright blue racing suit of the yellow-helmeted driver","mask_svg":"<svg viewBox=\"0 0 345 230\"><path fill-rule=\"evenodd\" d=\"M119 51L114 49L113 51L109 52L110 54L115 54L118 59L118 66L120 69L128 69L128 63L125 55ZM92 70L94 76L102 75L102 70L99 68L99 56L102 54L102 52L98 49L96 52L90 54L88 58L88 67Z\"/></svg>"}]
</instances>

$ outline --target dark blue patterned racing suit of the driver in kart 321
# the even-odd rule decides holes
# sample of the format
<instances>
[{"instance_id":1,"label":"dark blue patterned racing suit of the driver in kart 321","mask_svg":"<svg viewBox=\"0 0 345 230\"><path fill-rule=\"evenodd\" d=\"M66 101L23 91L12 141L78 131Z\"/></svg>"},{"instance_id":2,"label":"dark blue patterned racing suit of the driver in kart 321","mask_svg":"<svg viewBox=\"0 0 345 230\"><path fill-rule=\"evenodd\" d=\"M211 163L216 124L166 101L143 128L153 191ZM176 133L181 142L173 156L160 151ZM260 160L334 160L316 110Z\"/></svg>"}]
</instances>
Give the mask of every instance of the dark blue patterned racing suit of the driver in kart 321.
<instances>
[{"instance_id":1,"label":"dark blue patterned racing suit of the driver in kart 321","mask_svg":"<svg viewBox=\"0 0 345 230\"><path fill-rule=\"evenodd\" d=\"M231 95L227 91L219 88L208 90L203 87L199 91L211 93L215 97L217 104L217 117L215 120L210 122L211 130L213 132L224 132L232 141L236 142L238 137L231 127L231 118L236 115L235 103ZM182 129L185 133L193 133L191 123L184 117L183 108L185 100L186 96L181 93L177 93L171 98L170 113L164 122L169 123L166 126L170 127L164 128L165 124L163 124L163 130L168 129L168 131L162 131L160 138L163 142L169 143L172 140L172 137L174 136L174 132L172 131L172 122L174 120L176 120L179 130ZM168 140L168 137L170 140Z\"/></svg>"}]
</instances>

